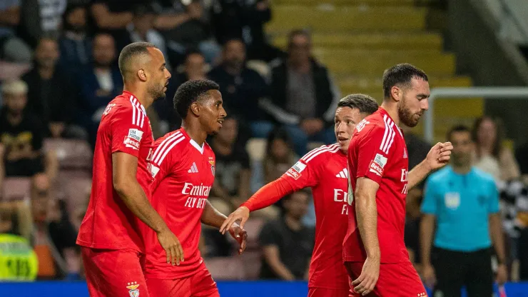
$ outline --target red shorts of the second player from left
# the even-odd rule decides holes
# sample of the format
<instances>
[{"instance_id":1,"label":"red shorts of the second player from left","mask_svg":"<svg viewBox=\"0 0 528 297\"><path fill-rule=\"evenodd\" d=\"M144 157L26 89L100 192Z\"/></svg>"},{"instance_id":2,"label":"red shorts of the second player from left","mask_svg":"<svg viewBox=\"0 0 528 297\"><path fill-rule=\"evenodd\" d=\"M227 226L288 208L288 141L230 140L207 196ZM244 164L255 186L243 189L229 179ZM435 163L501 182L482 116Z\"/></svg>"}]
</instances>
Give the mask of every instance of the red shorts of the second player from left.
<instances>
[{"instance_id":1,"label":"red shorts of the second player from left","mask_svg":"<svg viewBox=\"0 0 528 297\"><path fill-rule=\"evenodd\" d=\"M215 281L202 263L192 276L176 279L147 279L151 296L163 297L220 297Z\"/></svg>"}]
</instances>

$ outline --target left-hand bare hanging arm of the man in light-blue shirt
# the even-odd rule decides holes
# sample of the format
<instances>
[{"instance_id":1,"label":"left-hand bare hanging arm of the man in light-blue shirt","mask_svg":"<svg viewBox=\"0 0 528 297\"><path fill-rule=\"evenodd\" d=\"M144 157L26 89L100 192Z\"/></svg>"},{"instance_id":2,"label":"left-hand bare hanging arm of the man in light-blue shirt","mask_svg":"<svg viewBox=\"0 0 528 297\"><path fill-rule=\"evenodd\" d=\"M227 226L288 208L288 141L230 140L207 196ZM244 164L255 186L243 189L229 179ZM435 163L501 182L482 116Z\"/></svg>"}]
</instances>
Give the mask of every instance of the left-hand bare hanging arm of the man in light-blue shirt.
<instances>
[{"instance_id":1,"label":"left-hand bare hanging arm of the man in light-blue shirt","mask_svg":"<svg viewBox=\"0 0 528 297\"><path fill-rule=\"evenodd\" d=\"M420 245L422 246L423 277L427 286L435 284L435 268L431 264L432 236L435 233L435 215L425 213L420 222Z\"/></svg>"}]
</instances>

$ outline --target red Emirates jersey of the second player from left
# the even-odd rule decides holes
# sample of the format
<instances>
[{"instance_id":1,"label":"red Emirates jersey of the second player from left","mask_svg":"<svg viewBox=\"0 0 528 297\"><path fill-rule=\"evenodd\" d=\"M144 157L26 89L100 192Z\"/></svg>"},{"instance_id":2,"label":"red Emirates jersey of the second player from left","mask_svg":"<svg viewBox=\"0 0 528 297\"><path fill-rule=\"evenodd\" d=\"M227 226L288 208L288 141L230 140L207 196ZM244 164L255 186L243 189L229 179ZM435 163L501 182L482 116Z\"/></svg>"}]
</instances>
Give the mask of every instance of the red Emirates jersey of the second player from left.
<instances>
[{"instance_id":1,"label":"red Emirates jersey of the second player from left","mask_svg":"<svg viewBox=\"0 0 528 297\"><path fill-rule=\"evenodd\" d=\"M215 154L207 143L199 146L179 129L158 139L149 170L152 206L178 237L185 261L172 266L158 242L156 233L146 231L147 278L176 279L196 273L203 258L198 251L200 218L215 180Z\"/></svg>"}]
</instances>

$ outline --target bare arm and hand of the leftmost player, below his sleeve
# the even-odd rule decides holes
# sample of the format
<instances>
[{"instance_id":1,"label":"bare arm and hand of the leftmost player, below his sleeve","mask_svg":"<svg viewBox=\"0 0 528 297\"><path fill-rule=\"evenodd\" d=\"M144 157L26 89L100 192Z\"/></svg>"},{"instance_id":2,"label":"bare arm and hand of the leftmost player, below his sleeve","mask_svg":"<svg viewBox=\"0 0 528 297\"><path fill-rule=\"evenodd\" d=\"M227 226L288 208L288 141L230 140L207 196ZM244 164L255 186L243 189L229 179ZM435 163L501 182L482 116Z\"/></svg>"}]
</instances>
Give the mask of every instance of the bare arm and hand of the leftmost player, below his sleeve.
<instances>
[{"instance_id":1,"label":"bare arm and hand of the leftmost player, below his sleeve","mask_svg":"<svg viewBox=\"0 0 528 297\"><path fill-rule=\"evenodd\" d=\"M178 238L169 230L161 216L154 210L136 179L138 158L128 153L112 153L113 188L126 207L143 223L156 231L158 240L167 253L167 263L180 265L183 261L183 248Z\"/></svg>"}]
</instances>

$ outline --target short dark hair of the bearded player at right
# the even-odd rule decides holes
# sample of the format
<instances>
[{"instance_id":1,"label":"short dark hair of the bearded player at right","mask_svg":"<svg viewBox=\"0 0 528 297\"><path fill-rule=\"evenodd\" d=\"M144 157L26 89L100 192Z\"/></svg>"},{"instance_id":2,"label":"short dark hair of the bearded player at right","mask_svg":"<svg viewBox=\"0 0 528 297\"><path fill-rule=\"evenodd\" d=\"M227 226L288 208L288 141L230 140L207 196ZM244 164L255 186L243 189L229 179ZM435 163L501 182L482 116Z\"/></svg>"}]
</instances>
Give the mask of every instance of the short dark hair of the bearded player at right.
<instances>
[{"instance_id":1,"label":"short dark hair of the bearded player at right","mask_svg":"<svg viewBox=\"0 0 528 297\"><path fill-rule=\"evenodd\" d=\"M402 63L390 67L383 72L383 96L390 98L390 89L393 86L410 86L412 79L427 79L427 74L411 64Z\"/></svg>"}]
</instances>

